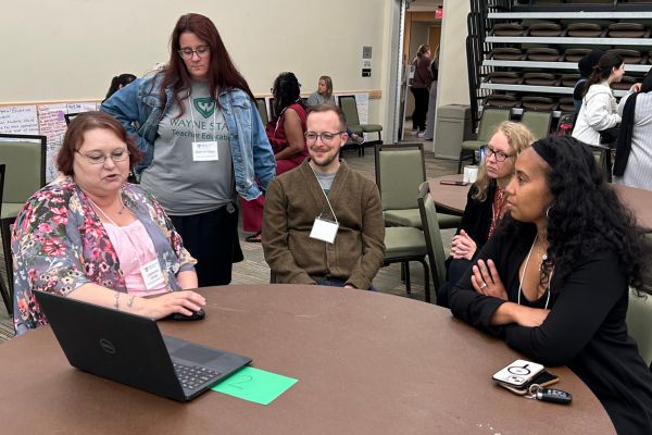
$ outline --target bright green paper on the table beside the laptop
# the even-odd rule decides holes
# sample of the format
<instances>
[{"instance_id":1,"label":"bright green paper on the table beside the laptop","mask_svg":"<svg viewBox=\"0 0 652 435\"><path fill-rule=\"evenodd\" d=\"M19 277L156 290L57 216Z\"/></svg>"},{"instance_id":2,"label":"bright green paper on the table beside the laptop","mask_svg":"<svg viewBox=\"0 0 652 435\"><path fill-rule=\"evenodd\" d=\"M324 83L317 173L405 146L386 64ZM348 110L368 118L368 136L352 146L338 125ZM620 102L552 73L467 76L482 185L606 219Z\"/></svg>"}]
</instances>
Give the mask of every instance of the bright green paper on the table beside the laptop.
<instances>
[{"instance_id":1,"label":"bright green paper on the table beside the laptop","mask_svg":"<svg viewBox=\"0 0 652 435\"><path fill-rule=\"evenodd\" d=\"M246 366L231 374L212 389L239 399L269 405L298 380L264 370Z\"/></svg>"}]
</instances>

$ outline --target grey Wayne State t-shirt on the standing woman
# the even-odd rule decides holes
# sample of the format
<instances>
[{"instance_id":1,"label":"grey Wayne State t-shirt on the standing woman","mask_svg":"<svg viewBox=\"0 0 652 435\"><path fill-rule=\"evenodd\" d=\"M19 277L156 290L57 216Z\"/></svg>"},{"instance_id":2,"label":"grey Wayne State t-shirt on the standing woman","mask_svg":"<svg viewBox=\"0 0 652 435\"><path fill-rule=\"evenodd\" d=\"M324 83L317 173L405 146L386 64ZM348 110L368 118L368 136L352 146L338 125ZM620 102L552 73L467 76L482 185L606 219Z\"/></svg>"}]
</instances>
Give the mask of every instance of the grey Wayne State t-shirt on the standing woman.
<instances>
[{"instance_id":1,"label":"grey Wayne State t-shirt on the standing woman","mask_svg":"<svg viewBox=\"0 0 652 435\"><path fill-rule=\"evenodd\" d=\"M176 216L216 210L235 196L229 132L208 83L192 82L183 103L181 117L175 104L159 123L154 159L140 182L167 214ZM217 160L195 161L192 142L212 140L217 141Z\"/></svg>"}]
</instances>

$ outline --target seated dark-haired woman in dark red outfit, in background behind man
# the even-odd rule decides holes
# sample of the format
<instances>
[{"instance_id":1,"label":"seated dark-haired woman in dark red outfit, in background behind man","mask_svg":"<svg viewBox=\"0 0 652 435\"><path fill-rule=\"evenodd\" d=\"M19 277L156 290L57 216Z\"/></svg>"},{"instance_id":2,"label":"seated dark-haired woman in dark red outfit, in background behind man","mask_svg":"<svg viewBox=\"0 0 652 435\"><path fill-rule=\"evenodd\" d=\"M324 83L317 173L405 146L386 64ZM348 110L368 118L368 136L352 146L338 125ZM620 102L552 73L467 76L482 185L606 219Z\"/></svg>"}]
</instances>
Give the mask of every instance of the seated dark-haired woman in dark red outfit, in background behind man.
<instances>
[{"instance_id":1,"label":"seated dark-haired woman in dark red outfit, in background behind man","mask_svg":"<svg viewBox=\"0 0 652 435\"><path fill-rule=\"evenodd\" d=\"M276 175L299 166L308 157L305 147L305 107L301 100L301 85L293 73L280 73L272 88L275 116L267 123L266 134L276 159ZM249 243L261 241L265 198L240 201L242 229L253 233Z\"/></svg>"}]
</instances>

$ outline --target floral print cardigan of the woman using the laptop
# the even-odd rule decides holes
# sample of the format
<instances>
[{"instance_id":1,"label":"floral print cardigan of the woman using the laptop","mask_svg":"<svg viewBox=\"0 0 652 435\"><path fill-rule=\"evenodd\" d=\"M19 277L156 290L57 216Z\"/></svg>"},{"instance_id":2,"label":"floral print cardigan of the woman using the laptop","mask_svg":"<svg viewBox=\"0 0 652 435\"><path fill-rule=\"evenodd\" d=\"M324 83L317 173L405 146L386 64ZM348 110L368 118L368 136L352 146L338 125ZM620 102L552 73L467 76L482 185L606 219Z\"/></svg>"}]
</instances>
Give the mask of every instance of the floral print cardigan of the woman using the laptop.
<instances>
[{"instance_id":1,"label":"floral print cardigan of the woman using the laptop","mask_svg":"<svg viewBox=\"0 0 652 435\"><path fill-rule=\"evenodd\" d=\"M179 290L176 274L193 270L197 261L151 195L133 184L125 184L121 195L151 237L167 287ZM127 293L109 235L70 176L60 176L27 200L16 217L11 247L16 335L47 323L33 290L67 295L95 283Z\"/></svg>"}]
</instances>

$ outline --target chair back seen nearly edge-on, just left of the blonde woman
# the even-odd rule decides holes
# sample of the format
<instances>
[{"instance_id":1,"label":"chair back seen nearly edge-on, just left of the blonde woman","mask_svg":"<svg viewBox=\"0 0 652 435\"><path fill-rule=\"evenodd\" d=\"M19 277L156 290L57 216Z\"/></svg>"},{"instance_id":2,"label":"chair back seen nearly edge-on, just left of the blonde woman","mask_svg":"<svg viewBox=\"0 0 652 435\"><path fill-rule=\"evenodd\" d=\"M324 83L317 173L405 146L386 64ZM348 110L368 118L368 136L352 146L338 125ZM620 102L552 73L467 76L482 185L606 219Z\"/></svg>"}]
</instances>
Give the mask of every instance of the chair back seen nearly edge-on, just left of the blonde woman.
<instances>
[{"instance_id":1,"label":"chair back seen nearly edge-on, just left of the blonde woman","mask_svg":"<svg viewBox=\"0 0 652 435\"><path fill-rule=\"evenodd\" d=\"M430 273L435 289L439 289L446 282L446 254L443 251L443 241L439 229L437 210L435 201L430 196L430 186L423 183L418 190L418 210L422 216L424 235L426 237L426 247L428 248L428 262L430 263ZM437 291L435 293L437 294Z\"/></svg>"}]
</instances>

